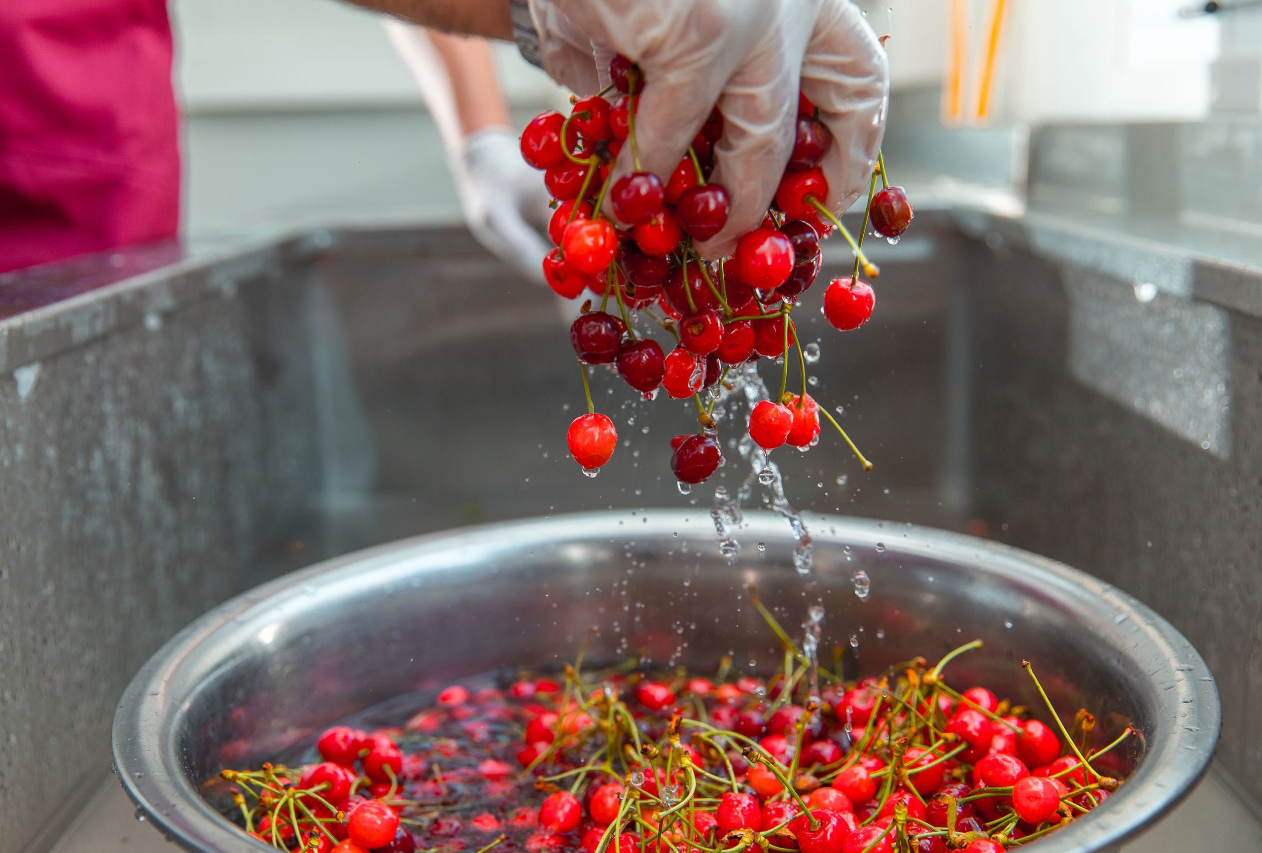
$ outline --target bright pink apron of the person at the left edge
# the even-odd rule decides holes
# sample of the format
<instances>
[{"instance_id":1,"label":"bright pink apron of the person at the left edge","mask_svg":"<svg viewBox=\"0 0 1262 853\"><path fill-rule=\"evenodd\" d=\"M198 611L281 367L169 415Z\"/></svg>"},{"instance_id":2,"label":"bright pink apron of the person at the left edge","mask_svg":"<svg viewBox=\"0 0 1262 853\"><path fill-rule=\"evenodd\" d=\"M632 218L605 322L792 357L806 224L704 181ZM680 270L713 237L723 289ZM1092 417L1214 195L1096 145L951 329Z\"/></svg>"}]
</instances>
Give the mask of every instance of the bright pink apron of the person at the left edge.
<instances>
[{"instance_id":1,"label":"bright pink apron of the person at the left edge","mask_svg":"<svg viewBox=\"0 0 1262 853\"><path fill-rule=\"evenodd\" d=\"M165 0L0 0L0 271L174 236Z\"/></svg>"}]
</instances>

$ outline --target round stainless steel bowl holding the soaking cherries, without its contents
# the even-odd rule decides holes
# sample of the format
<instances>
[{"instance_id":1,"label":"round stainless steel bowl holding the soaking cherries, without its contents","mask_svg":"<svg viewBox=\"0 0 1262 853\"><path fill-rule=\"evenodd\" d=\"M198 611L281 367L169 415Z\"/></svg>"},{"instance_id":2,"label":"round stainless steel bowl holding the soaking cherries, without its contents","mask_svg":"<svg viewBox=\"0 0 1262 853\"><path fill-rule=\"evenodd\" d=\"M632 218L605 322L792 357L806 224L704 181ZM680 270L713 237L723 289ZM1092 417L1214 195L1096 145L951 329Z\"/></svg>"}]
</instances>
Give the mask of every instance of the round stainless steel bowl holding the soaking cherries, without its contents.
<instances>
[{"instance_id":1,"label":"round stainless steel bowl holding the soaking cherries, without its contents","mask_svg":"<svg viewBox=\"0 0 1262 853\"><path fill-rule=\"evenodd\" d=\"M502 666L642 651L712 668L774 669L750 584L796 625L828 612L823 650L849 675L973 637L957 684L984 680L1037 708L1034 662L1063 714L1083 705L1133 775L1100 809L1037 847L1112 850L1204 772L1219 703L1200 655L1165 620L1069 567L979 539L890 522L809 517L815 569L793 568L784 520L752 515L728 565L704 514L598 512L473 527L338 558L259 587L172 638L114 718L114 756L146 816L189 850L262 849L202 797L223 766L256 763L385 699ZM757 543L765 543L761 550ZM871 593L856 594L864 570ZM857 646L854 645L857 642ZM827 652L825 652L827 655Z\"/></svg>"}]
</instances>

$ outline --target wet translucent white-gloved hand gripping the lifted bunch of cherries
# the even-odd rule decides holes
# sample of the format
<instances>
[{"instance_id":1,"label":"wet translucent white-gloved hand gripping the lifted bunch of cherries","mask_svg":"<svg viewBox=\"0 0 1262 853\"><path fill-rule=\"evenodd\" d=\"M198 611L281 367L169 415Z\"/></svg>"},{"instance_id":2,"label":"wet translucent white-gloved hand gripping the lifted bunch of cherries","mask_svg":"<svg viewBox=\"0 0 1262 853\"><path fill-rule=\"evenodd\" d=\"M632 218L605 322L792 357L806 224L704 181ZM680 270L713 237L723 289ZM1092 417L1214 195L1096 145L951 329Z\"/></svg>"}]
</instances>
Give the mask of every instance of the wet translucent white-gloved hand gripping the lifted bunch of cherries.
<instances>
[{"instance_id":1,"label":"wet translucent white-gloved hand gripping the lifted bunch of cherries","mask_svg":"<svg viewBox=\"0 0 1262 853\"><path fill-rule=\"evenodd\" d=\"M718 105L723 138L711 180L728 191L732 209L698 245L707 257L731 252L761 222L793 150L799 86L833 132L825 203L840 213L867 189L888 69L849 0L530 0L530 10L544 68L579 95L608 82L613 53L639 63L640 164L663 182ZM623 145L613 179L632 169Z\"/></svg>"}]
</instances>

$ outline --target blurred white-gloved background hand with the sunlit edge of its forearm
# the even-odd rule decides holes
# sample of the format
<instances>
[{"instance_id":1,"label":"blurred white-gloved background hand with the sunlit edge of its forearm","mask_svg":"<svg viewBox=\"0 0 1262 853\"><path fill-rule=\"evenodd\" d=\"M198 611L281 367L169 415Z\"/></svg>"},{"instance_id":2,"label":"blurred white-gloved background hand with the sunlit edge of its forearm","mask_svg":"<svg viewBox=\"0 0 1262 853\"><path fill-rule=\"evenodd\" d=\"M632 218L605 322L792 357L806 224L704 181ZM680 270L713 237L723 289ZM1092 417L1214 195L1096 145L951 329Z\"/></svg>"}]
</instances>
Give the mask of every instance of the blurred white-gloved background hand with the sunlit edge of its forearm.
<instances>
[{"instance_id":1,"label":"blurred white-gloved background hand with the sunlit edge of its forearm","mask_svg":"<svg viewBox=\"0 0 1262 853\"><path fill-rule=\"evenodd\" d=\"M545 228L551 211L539 173L521 159L517 132L491 126L466 136L447 68L424 28L391 19L385 29L438 125L469 231L522 276L544 284L543 259L551 246L531 225Z\"/></svg>"}]
</instances>

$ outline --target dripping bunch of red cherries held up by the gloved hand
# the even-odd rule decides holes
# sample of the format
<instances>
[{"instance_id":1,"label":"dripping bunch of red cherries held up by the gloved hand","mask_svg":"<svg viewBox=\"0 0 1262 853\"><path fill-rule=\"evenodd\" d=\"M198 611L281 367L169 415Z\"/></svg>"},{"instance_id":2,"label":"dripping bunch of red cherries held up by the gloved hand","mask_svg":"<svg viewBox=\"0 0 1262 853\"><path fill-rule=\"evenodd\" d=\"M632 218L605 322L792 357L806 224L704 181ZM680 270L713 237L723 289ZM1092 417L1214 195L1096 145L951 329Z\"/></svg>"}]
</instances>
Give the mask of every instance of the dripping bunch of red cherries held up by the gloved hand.
<instances>
[{"instance_id":1,"label":"dripping bunch of red cherries held up by the gloved hand","mask_svg":"<svg viewBox=\"0 0 1262 853\"><path fill-rule=\"evenodd\" d=\"M856 264L851 276L834 279L825 289L824 317L834 328L851 331L872 315L875 294L859 271L873 278L877 269L863 256L862 238L870 223L875 233L890 240L907 228L912 211L906 193L887 185L883 160L878 160L859 240L851 237L823 204L828 180L819 164L833 139L803 96L793 154L771 209L760 227L738 240L733 255L707 261L694 241L716 236L729 212L727 191L708 180L713 146L723 132L722 115L711 112L664 183L639 170L635 111L644 74L630 59L616 56L610 76L610 88L622 93L615 102L603 92L578 98L569 116L544 112L521 135L522 156L544 170L555 199L548 232L557 247L544 259L544 276L562 297L591 294L570 327L588 408L568 430L574 461L594 476L617 443L613 421L592 404L587 365L615 367L646 397L660 387L676 400L695 399L699 432L671 439L671 468L683 483L699 483L723 463L714 394L708 404L702 394L723 382L729 370L760 357L782 358L784 368L779 396L762 400L751 413L748 430L755 443L765 450L784 444L810 447L818 440L823 413L853 448L827 409L806 394L804 362L800 392L784 390L790 347L796 347L801 360L790 314L819 275L820 240L837 228L851 242ZM611 182L623 145L631 146L636 170ZM878 192L877 178L885 184ZM594 310L593 299L599 300ZM637 328L637 319L660 326L674 343L671 351Z\"/></svg>"}]
</instances>

